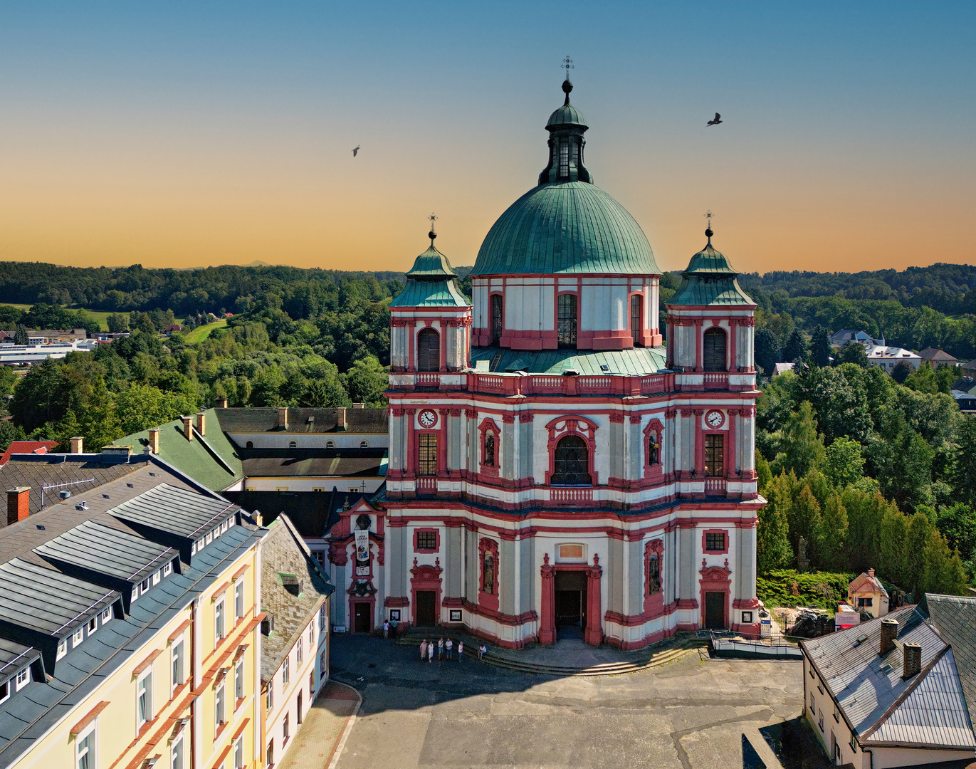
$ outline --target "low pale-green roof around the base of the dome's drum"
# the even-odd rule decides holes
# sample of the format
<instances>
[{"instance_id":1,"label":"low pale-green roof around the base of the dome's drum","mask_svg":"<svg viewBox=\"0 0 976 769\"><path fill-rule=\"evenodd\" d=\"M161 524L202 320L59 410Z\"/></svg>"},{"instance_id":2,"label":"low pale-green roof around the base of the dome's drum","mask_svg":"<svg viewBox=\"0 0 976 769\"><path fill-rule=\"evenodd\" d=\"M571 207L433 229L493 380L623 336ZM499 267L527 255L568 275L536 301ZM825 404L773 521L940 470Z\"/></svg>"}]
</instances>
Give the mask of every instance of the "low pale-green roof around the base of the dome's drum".
<instances>
[{"instance_id":1,"label":"low pale-green roof around the base of the dome's drum","mask_svg":"<svg viewBox=\"0 0 976 769\"><path fill-rule=\"evenodd\" d=\"M655 374L665 367L665 347L631 347L594 352L578 349L545 349L540 351L507 347L473 347L471 366L476 360L501 359L495 373L525 371L529 374L562 374L576 369L580 374ZM604 371L601 366L606 366Z\"/></svg>"}]
</instances>

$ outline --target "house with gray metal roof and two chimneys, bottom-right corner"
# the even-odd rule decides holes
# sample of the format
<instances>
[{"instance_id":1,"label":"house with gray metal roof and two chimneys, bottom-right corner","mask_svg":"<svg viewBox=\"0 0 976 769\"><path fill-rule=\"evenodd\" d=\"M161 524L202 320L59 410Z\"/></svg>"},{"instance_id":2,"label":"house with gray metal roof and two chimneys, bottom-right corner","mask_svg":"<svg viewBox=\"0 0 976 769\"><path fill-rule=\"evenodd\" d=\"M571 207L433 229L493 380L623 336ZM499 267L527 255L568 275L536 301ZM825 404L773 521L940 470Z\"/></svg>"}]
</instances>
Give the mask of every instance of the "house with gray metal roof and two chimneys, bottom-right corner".
<instances>
[{"instance_id":1,"label":"house with gray metal roof and two chimneys, bottom-right corner","mask_svg":"<svg viewBox=\"0 0 976 769\"><path fill-rule=\"evenodd\" d=\"M926 595L800 641L804 714L836 764L962 766L976 757L976 598Z\"/></svg>"}]
</instances>

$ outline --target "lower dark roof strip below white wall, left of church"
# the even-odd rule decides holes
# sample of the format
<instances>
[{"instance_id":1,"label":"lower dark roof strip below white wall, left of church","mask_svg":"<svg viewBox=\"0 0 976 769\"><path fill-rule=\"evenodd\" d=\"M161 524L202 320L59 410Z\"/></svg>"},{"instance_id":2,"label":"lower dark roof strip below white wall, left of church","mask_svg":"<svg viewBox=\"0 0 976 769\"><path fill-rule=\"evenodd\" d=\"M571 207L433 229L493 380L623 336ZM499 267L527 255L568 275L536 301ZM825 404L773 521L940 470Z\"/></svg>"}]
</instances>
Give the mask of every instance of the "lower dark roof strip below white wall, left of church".
<instances>
[{"instance_id":1,"label":"lower dark roof strip below white wall, left of church","mask_svg":"<svg viewBox=\"0 0 976 769\"><path fill-rule=\"evenodd\" d=\"M387 451L377 449L241 449L249 478L308 475L386 475Z\"/></svg>"}]
</instances>

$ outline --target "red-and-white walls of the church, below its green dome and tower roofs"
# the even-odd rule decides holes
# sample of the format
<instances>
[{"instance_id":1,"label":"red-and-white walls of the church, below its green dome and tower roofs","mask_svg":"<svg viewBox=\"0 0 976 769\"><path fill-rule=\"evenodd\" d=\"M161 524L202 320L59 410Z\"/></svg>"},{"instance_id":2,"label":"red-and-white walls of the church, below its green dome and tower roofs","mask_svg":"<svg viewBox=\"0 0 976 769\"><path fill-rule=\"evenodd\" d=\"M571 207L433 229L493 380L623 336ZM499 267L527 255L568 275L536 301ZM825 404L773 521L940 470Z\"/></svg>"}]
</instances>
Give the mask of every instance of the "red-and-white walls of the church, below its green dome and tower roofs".
<instances>
[{"instance_id":1,"label":"red-and-white walls of the church, below its green dome and tower roofs","mask_svg":"<svg viewBox=\"0 0 976 769\"><path fill-rule=\"evenodd\" d=\"M584 288L579 354L595 345L583 335L588 312L590 328L620 331L635 286L656 318L657 278L574 277ZM554 584L560 572L581 571L589 643L632 649L705 627L707 593L713 607L721 593L723 627L757 632L755 526L763 501L754 471L754 306L669 306L671 368L660 373L470 369L471 335L485 339L485 304L496 288L506 307L517 307L512 322L507 313L502 346L546 343L528 333L540 326L530 307L545 314L556 287L568 283L541 276L536 285L532 294L524 281L488 278L475 284L473 308L394 308L386 495L344 512L333 529L333 578L348 595L346 605L334 602L336 623L353 630L356 607L368 603L370 627L394 611L401 624L415 624L418 592L433 591L441 626L464 626L510 647L551 643ZM588 297L586 287L596 293ZM706 372L703 339L714 326L726 334L729 365ZM417 370L418 334L427 328L440 335L439 371ZM656 328L642 332L640 339L660 344ZM422 436L431 435L436 469L424 474L421 443L431 442ZM567 435L586 442L590 485L550 484L555 446ZM707 476L710 435L721 436L723 466ZM489 436L494 461L486 463ZM370 560L356 574L352 530L363 515Z\"/></svg>"}]
</instances>

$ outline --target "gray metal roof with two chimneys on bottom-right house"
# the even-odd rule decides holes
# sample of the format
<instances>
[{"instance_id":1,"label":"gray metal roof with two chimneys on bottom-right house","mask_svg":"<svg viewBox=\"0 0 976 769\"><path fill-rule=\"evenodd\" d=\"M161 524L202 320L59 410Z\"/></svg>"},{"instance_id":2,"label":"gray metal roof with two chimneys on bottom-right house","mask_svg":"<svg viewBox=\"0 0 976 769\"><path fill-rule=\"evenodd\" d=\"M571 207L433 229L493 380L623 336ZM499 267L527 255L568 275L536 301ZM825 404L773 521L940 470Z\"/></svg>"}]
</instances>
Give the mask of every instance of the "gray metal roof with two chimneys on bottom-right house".
<instances>
[{"instance_id":1,"label":"gray metal roof with two chimneys on bottom-right house","mask_svg":"<svg viewBox=\"0 0 976 769\"><path fill-rule=\"evenodd\" d=\"M880 619L800 642L859 742L976 748L950 645L915 606L884 619L898 622L898 644L883 657ZM861 635L867 638L858 643ZM921 647L921 672L908 680L902 678L904 643Z\"/></svg>"}]
</instances>

